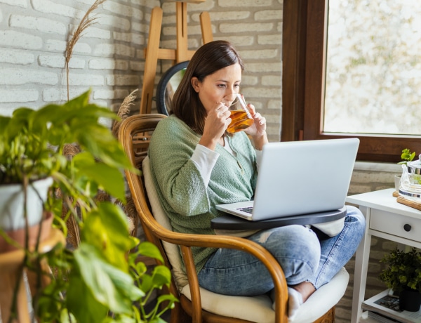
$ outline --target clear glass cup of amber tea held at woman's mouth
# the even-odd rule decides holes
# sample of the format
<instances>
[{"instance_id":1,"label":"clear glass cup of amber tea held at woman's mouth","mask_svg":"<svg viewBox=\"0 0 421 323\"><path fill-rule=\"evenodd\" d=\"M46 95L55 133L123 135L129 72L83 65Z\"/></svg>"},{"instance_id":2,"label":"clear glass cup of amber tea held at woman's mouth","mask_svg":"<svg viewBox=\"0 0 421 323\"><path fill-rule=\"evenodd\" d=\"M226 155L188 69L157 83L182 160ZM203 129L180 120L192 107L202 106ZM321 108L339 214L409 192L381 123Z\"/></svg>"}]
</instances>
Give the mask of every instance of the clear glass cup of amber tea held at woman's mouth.
<instances>
[{"instance_id":1,"label":"clear glass cup of amber tea held at woman's mouth","mask_svg":"<svg viewBox=\"0 0 421 323\"><path fill-rule=\"evenodd\" d=\"M227 128L229 133L242 131L253 124L254 120L251 117L247 103L242 94L232 93L226 95L222 100L222 103L224 103L229 108L229 112L231 112L232 121Z\"/></svg>"}]
</instances>

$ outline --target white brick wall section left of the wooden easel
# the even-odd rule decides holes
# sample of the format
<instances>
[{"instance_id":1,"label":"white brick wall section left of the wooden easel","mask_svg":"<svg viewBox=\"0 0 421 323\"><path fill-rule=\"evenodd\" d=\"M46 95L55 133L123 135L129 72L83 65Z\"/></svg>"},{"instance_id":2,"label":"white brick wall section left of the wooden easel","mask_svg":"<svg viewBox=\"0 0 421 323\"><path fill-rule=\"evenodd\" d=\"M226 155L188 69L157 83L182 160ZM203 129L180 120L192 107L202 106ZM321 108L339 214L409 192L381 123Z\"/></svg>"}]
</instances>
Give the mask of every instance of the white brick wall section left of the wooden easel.
<instances>
[{"instance_id":1,"label":"white brick wall section left of the wooden easel","mask_svg":"<svg viewBox=\"0 0 421 323\"><path fill-rule=\"evenodd\" d=\"M93 2L0 0L0 114L67 100L67 40ZM160 1L109 0L94 12L96 23L74 46L69 62L72 97L92 88L93 102L118 110L123 98L141 87L154 6Z\"/></svg>"}]
</instances>

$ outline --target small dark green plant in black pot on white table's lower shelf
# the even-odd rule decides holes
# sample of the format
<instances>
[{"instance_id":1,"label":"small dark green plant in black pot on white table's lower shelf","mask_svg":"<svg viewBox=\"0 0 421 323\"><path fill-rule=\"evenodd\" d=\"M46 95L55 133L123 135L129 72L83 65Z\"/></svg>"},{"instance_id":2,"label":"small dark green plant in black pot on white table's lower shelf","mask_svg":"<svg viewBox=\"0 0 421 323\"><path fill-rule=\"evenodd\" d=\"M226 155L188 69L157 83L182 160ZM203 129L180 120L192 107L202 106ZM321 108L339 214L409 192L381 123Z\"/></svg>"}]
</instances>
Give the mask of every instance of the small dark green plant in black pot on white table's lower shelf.
<instances>
[{"instance_id":1,"label":"small dark green plant in black pot on white table's lower shelf","mask_svg":"<svg viewBox=\"0 0 421 323\"><path fill-rule=\"evenodd\" d=\"M413 248L408 252L392 250L381 260L387 268L379 279L399 294L401 310L417 312L421 305L421 253Z\"/></svg>"}]
</instances>

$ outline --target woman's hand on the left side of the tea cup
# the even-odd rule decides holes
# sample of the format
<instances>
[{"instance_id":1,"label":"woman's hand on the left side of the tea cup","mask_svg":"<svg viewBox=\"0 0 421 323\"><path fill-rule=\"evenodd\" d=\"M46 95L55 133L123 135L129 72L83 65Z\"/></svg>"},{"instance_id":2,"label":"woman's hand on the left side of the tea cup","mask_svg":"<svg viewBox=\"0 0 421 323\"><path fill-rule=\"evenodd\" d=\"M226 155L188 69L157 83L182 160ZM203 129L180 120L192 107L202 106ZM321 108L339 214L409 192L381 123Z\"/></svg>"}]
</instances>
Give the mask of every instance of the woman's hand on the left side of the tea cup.
<instances>
[{"instance_id":1,"label":"woman's hand on the left side of the tea cup","mask_svg":"<svg viewBox=\"0 0 421 323\"><path fill-rule=\"evenodd\" d=\"M215 103L215 107L209 110L203 127L203 136L199 144L215 150L216 144L221 140L227 126L231 122L231 113L223 103Z\"/></svg>"}]
</instances>

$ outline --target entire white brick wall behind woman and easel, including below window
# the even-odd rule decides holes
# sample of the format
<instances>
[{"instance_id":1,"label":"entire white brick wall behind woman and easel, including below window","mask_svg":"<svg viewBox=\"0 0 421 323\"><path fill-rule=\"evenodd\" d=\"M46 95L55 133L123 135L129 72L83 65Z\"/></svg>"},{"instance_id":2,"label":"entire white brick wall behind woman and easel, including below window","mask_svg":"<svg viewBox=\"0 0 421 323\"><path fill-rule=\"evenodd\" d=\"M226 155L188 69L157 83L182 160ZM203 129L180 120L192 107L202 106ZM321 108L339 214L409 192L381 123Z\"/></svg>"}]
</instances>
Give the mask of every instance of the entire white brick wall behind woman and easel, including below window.
<instances>
[{"instance_id":1,"label":"entire white brick wall behind woman and easel, including below window","mask_svg":"<svg viewBox=\"0 0 421 323\"><path fill-rule=\"evenodd\" d=\"M22 105L41 107L67 100L65 48L94 0L0 0L0 114ZM175 48L175 3L158 0L107 0L97 23L86 30L70 60L70 96L92 88L92 101L118 110L123 98L141 88L149 21L154 6L163 8L162 48ZM214 39L231 41L246 69L241 91L268 121L271 141L281 132L282 0L207 0L188 4L189 48L201 45L199 14L210 13ZM159 61L156 83L171 62ZM138 113L136 100L133 113ZM392 187L393 165L359 164L349 193ZM392 244L373 239L368 294L382 289L376 280L378 258ZM351 261L347 269L353 277ZM352 282L352 280L351 280ZM352 284L337 307L337 322L349 322Z\"/></svg>"}]
</instances>

